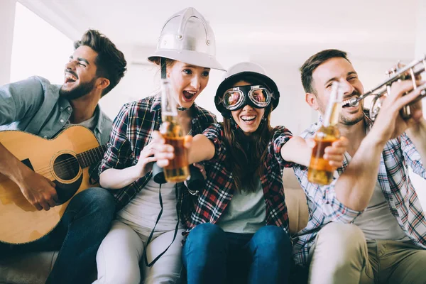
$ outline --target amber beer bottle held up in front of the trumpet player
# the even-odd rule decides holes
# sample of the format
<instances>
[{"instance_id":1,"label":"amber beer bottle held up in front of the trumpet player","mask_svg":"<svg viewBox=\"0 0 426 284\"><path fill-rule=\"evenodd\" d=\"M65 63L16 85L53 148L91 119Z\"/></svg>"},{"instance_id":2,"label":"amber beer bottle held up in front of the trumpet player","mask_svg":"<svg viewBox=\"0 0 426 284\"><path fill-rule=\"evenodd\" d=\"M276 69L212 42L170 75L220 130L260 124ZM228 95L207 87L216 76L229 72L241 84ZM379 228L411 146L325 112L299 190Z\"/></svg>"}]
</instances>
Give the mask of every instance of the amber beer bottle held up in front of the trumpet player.
<instances>
[{"instance_id":1,"label":"amber beer bottle held up in front of the trumpet player","mask_svg":"<svg viewBox=\"0 0 426 284\"><path fill-rule=\"evenodd\" d=\"M338 82L334 82L322 126L315 133L315 147L312 150L310 165L307 170L307 180L312 183L329 185L333 180L335 168L329 164L328 160L324 160L324 149L340 138L337 123L342 110L342 100L342 86Z\"/></svg>"}]
</instances>

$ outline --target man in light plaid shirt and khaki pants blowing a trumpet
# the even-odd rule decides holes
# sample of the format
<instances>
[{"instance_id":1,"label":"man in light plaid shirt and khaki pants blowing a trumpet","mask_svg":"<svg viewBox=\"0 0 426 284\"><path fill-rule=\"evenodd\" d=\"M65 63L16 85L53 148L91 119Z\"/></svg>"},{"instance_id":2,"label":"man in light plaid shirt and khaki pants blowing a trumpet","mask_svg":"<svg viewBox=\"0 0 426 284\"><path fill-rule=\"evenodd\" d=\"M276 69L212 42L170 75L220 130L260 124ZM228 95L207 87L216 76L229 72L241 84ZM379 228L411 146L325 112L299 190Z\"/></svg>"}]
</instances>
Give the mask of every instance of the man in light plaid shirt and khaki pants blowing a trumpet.
<instances>
[{"instance_id":1,"label":"man in light plaid shirt and khaki pants blowing a trumpet","mask_svg":"<svg viewBox=\"0 0 426 284\"><path fill-rule=\"evenodd\" d=\"M294 168L310 207L295 262L310 268L309 283L425 283L426 218L408 177L410 166L426 178L426 121L418 99L425 81L393 82L373 123L364 101L356 101L364 87L345 52L322 50L300 71L305 100L322 115L332 83L343 84L338 128L350 143L330 185L312 184L307 168ZM411 116L403 119L408 104ZM301 136L319 128L312 124Z\"/></svg>"}]
</instances>

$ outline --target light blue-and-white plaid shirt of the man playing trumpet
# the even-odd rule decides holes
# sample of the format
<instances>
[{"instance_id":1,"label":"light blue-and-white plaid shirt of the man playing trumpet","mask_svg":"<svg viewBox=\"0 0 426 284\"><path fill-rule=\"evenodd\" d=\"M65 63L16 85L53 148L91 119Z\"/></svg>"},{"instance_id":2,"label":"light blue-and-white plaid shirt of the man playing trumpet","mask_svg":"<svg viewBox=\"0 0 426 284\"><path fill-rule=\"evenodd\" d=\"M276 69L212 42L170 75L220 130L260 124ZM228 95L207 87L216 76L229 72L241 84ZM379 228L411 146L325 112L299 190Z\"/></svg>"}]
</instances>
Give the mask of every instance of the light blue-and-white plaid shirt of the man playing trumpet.
<instances>
[{"instance_id":1,"label":"light blue-and-white plaid shirt of the man playing trumpet","mask_svg":"<svg viewBox=\"0 0 426 284\"><path fill-rule=\"evenodd\" d=\"M373 126L367 112L364 113L367 127ZM313 137L320 128L320 123L312 124L302 132L303 138ZM344 158L342 168L337 173L342 175L349 161ZM386 143L381 155L378 169L378 183L388 202L391 213L398 220L401 229L419 247L426 249L426 219L414 187L408 177L408 165L414 173L426 178L425 168L420 160L420 154L415 149L410 138L403 133L398 138ZM362 212L354 211L337 200L334 192L335 178L330 185L320 186L307 180L307 168L295 165L293 170L305 190L309 207L309 220L305 229L297 233L293 257L295 263L306 266L310 247L315 243L315 237L320 229L329 222L352 223Z\"/></svg>"}]
</instances>

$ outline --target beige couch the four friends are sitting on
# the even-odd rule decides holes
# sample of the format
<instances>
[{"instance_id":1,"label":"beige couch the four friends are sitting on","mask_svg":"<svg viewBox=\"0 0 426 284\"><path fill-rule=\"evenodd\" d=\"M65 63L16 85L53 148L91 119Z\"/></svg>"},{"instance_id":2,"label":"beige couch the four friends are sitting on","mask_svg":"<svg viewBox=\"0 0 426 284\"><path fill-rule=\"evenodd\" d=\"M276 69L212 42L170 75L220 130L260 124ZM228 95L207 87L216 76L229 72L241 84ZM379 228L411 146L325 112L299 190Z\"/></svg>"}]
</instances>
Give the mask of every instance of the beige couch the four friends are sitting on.
<instances>
[{"instance_id":1,"label":"beige couch the four friends are sitting on","mask_svg":"<svg viewBox=\"0 0 426 284\"><path fill-rule=\"evenodd\" d=\"M292 169L284 170L283 180L290 232L295 234L307 224L306 197ZM57 251L50 251L0 258L0 284L43 284L57 256Z\"/></svg>"}]
</instances>

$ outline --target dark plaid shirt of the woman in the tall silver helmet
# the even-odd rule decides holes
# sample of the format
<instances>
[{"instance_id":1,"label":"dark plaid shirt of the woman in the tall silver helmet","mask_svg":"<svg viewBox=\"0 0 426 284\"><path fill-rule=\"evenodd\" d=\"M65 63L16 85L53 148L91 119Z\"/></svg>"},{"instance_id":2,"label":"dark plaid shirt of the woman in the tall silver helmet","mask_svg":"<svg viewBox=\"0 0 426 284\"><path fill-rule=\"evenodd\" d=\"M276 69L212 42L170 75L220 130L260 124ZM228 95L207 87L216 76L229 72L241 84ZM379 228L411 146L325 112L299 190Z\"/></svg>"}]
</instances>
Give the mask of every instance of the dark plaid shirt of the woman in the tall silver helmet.
<instances>
[{"instance_id":1,"label":"dark plaid shirt of the woman in the tall silver helmet","mask_svg":"<svg viewBox=\"0 0 426 284\"><path fill-rule=\"evenodd\" d=\"M116 119L114 119L107 152L99 166L99 174L109 168L124 169L138 163L143 147L151 142L152 131L160 128L160 101L160 94L156 94L136 102L124 104ZM207 126L217 121L214 114L196 104L192 105L192 109L192 135L202 133ZM145 187L151 177L152 172L150 171L121 190L111 190L116 198L117 210L126 206ZM180 192L178 194L178 206L181 206L182 202L185 202L184 206L192 206L187 204L189 193L187 190L182 190L184 187L183 182L178 183ZM186 223L185 216L182 216L182 218L182 222Z\"/></svg>"}]
</instances>

